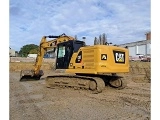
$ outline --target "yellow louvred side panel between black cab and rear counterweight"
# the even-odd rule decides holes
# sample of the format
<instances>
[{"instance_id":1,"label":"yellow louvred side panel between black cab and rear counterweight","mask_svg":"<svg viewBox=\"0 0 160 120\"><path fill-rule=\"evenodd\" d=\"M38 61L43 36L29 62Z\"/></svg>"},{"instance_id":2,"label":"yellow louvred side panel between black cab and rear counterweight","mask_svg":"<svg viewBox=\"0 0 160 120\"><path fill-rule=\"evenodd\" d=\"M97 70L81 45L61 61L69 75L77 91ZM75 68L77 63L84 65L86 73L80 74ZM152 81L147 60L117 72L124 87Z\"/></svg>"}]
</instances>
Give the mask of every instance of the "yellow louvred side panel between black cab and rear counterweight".
<instances>
[{"instance_id":1,"label":"yellow louvred side panel between black cab and rear counterweight","mask_svg":"<svg viewBox=\"0 0 160 120\"><path fill-rule=\"evenodd\" d=\"M95 69L98 57L96 56L96 50L93 46L80 48L77 53L73 54L69 69L66 71L71 73L96 74Z\"/></svg>"}]
</instances>

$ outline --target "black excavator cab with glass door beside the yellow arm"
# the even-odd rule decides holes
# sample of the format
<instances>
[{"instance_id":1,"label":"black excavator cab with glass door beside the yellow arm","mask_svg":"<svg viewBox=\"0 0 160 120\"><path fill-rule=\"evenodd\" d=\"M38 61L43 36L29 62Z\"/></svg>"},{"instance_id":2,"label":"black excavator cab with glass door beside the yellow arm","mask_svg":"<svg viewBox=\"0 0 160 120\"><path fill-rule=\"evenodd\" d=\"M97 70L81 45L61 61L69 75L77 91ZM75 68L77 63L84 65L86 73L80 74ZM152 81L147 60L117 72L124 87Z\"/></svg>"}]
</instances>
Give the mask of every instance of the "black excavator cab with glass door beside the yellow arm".
<instances>
[{"instance_id":1,"label":"black excavator cab with glass door beside the yellow arm","mask_svg":"<svg viewBox=\"0 0 160 120\"><path fill-rule=\"evenodd\" d=\"M71 57L79 48L85 46L83 41L67 41L57 45L56 69L68 69Z\"/></svg>"}]
</instances>

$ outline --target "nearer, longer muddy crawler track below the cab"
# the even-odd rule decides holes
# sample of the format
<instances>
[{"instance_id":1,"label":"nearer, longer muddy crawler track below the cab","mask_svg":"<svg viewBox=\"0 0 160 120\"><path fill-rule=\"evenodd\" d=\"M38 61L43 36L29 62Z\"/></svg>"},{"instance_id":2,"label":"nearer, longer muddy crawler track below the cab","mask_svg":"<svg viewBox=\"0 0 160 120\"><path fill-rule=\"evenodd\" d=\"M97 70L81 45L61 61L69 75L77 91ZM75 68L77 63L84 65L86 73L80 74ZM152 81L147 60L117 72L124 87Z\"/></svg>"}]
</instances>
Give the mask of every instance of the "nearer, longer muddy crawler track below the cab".
<instances>
[{"instance_id":1,"label":"nearer, longer muddy crawler track below the cab","mask_svg":"<svg viewBox=\"0 0 160 120\"><path fill-rule=\"evenodd\" d=\"M92 90L97 93L101 93L105 88L105 82L100 77L54 75L47 76L45 82L49 88L54 88L56 86L72 87L74 89Z\"/></svg>"}]
</instances>

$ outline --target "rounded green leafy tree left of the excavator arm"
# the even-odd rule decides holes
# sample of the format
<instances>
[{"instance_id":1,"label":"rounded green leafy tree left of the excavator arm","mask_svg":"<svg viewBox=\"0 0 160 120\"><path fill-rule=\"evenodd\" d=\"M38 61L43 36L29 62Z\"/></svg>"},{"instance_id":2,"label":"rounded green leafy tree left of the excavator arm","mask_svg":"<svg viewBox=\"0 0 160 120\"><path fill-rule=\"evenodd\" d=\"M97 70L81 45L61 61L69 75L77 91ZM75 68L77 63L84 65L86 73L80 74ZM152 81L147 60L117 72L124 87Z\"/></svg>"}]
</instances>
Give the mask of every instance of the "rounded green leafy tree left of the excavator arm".
<instances>
[{"instance_id":1,"label":"rounded green leafy tree left of the excavator arm","mask_svg":"<svg viewBox=\"0 0 160 120\"><path fill-rule=\"evenodd\" d=\"M35 44L27 44L27 45L24 45L20 51L19 51L19 54L20 56L22 57L27 57L27 55L30 53L31 50L33 49L38 49L38 45L35 45Z\"/></svg>"}]
</instances>

